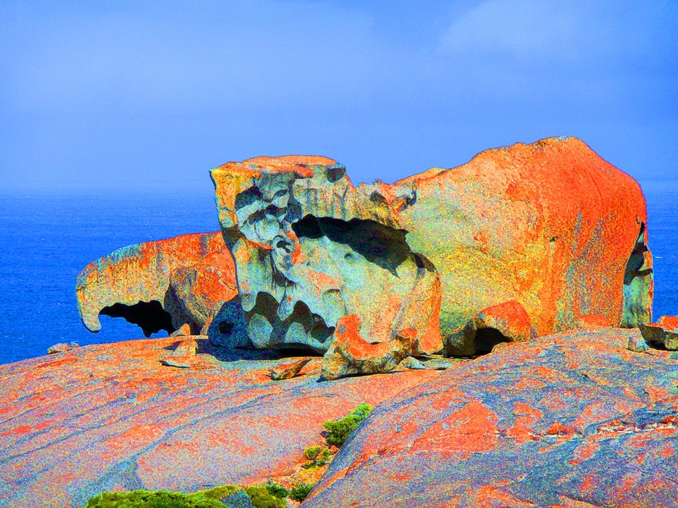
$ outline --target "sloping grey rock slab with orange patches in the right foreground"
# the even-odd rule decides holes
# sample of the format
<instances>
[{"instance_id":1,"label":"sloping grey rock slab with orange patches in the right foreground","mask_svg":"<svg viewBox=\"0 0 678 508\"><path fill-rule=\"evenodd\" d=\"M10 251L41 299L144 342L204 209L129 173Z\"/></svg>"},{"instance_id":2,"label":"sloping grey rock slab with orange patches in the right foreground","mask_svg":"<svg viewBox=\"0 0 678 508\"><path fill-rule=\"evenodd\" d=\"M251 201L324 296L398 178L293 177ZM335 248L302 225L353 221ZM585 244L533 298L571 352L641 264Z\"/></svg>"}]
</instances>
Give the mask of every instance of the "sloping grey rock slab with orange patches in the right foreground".
<instances>
[{"instance_id":1,"label":"sloping grey rock slab with orange patches in the right foreground","mask_svg":"<svg viewBox=\"0 0 678 508\"><path fill-rule=\"evenodd\" d=\"M303 507L678 506L678 360L631 336L504 343L381 403Z\"/></svg>"}]
</instances>

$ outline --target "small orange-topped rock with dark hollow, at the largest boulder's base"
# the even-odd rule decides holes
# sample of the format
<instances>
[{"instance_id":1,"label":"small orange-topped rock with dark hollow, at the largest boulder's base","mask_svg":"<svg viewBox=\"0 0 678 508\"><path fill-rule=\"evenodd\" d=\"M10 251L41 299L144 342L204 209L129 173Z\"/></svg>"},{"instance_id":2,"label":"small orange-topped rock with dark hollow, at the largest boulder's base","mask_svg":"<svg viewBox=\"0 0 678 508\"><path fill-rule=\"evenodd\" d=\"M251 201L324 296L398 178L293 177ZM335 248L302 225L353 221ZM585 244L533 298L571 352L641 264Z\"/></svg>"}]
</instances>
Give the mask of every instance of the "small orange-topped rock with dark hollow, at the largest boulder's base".
<instances>
[{"instance_id":1,"label":"small orange-topped rock with dark hollow, at the largest boulder's base","mask_svg":"<svg viewBox=\"0 0 678 508\"><path fill-rule=\"evenodd\" d=\"M524 342L536 338L530 316L519 302L492 305L470 318L465 326L448 336L445 352L448 356L486 354L504 342Z\"/></svg>"}]
</instances>

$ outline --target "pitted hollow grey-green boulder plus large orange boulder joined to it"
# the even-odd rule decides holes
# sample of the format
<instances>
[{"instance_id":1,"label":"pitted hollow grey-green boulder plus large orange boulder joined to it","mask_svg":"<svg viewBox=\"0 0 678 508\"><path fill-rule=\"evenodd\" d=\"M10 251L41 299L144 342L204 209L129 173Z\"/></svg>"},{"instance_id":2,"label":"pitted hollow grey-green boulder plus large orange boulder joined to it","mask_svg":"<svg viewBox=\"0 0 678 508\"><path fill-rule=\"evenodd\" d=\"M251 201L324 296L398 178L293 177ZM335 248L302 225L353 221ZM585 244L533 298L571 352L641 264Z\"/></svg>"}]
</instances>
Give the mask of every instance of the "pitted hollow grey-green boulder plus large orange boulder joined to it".
<instances>
[{"instance_id":1,"label":"pitted hollow grey-green boulder plus large orange boulder joined to it","mask_svg":"<svg viewBox=\"0 0 678 508\"><path fill-rule=\"evenodd\" d=\"M430 354L481 309L510 301L538 334L589 314L651 321L640 187L578 139L488 150L393 185L355 187L317 156L211 174L256 347L326 352L339 318L355 314L369 343L413 329L415 350ZM475 352L475 336L450 352Z\"/></svg>"}]
</instances>

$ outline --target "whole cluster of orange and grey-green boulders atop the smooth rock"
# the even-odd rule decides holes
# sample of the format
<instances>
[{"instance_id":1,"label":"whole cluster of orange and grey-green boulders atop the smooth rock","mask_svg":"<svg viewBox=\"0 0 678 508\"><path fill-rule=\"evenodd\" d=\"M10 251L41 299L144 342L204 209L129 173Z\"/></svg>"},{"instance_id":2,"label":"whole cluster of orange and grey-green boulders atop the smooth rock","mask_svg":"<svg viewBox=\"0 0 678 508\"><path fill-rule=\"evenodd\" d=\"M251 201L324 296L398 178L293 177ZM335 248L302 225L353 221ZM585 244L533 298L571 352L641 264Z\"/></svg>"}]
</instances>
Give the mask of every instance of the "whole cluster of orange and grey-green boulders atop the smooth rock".
<instances>
[{"instance_id":1,"label":"whole cluster of orange and grey-green boulders atop the smooth rock","mask_svg":"<svg viewBox=\"0 0 678 508\"><path fill-rule=\"evenodd\" d=\"M89 329L98 314L147 336L188 323L231 348L326 354L338 378L443 349L483 354L590 316L651 321L640 187L578 139L487 150L392 185L356 187L320 156L211 176L223 241L180 236L92 263L77 287Z\"/></svg>"}]
</instances>

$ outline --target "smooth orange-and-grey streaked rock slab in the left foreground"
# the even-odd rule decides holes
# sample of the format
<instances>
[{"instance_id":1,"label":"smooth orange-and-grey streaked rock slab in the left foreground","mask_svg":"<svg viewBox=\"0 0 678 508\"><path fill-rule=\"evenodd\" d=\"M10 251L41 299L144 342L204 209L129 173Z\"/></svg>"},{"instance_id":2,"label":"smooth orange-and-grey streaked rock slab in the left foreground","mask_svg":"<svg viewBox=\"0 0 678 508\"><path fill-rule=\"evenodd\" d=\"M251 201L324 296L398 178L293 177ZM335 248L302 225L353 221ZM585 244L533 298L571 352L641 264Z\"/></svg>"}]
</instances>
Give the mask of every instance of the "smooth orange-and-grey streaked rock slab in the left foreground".
<instances>
[{"instance_id":1,"label":"smooth orange-and-grey streaked rock slab in the left foreground","mask_svg":"<svg viewBox=\"0 0 678 508\"><path fill-rule=\"evenodd\" d=\"M112 489L195 491L283 476L322 424L435 371L281 383L290 359L221 362L196 338L190 369L163 367L176 338L83 346L0 365L0 507L82 508ZM310 367L310 365L308 365Z\"/></svg>"}]
</instances>

